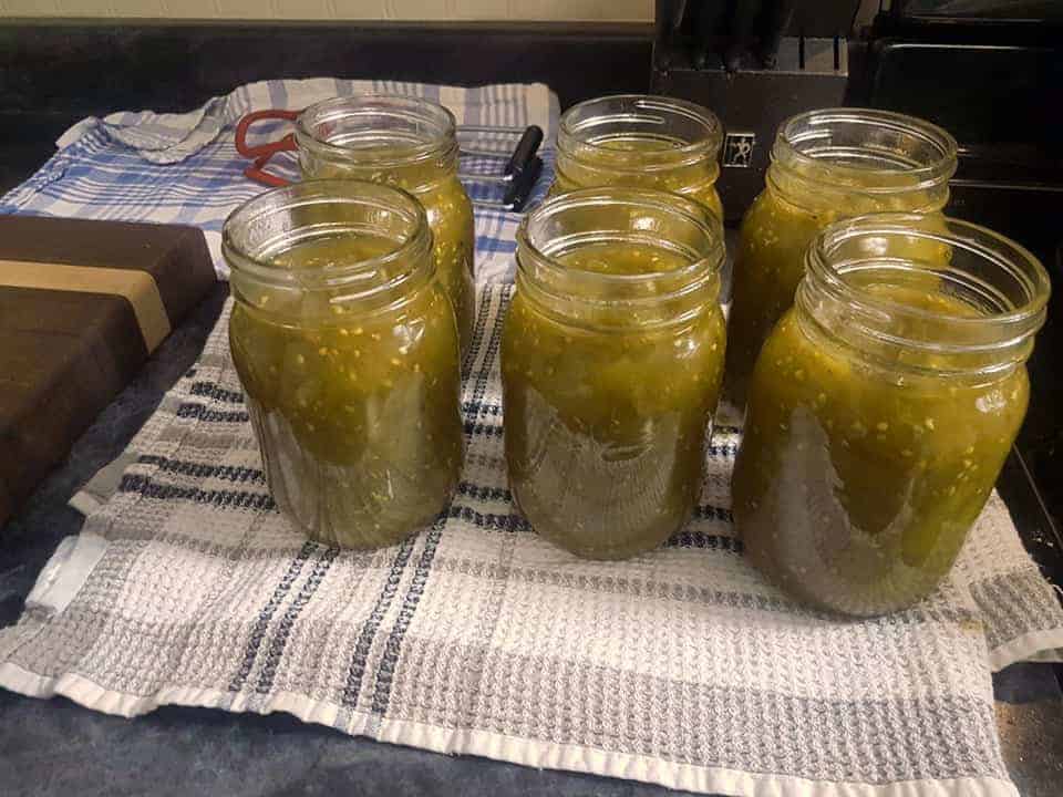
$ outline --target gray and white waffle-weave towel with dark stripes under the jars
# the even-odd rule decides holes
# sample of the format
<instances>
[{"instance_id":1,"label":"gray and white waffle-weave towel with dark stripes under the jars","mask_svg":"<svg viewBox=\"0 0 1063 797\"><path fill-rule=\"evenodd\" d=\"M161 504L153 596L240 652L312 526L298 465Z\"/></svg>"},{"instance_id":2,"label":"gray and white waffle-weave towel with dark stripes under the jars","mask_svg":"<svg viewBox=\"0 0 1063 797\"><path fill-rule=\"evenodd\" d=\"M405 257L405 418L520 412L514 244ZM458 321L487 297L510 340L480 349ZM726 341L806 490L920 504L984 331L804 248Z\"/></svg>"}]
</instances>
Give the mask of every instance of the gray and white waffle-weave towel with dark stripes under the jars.
<instances>
[{"instance_id":1,"label":"gray and white waffle-weave towel with dark stripes under the jars","mask_svg":"<svg viewBox=\"0 0 1063 797\"><path fill-rule=\"evenodd\" d=\"M768 586L733 536L737 432L667 546L582 561L506 489L498 340L481 296L450 508L400 546L306 541L266 489L227 344L131 446L117 491L0 630L0 685L135 715L289 712L442 753L778 797L1013 797L991 671L1059 659L1063 611L995 496L948 582L847 621Z\"/></svg>"}]
</instances>

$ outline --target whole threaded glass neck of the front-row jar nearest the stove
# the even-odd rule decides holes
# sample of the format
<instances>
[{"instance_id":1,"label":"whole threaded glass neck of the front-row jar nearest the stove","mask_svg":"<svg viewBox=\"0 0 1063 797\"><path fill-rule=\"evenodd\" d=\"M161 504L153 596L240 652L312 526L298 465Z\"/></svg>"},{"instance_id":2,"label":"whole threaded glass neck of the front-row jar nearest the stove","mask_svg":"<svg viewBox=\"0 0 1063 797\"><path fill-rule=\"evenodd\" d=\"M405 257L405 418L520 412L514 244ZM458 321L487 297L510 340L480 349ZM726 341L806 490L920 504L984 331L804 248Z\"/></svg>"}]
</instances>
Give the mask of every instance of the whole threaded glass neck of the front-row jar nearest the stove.
<instances>
[{"instance_id":1,"label":"whole threaded glass neck of the front-row jar nearest the stove","mask_svg":"<svg viewBox=\"0 0 1063 797\"><path fill-rule=\"evenodd\" d=\"M899 372L992 377L1029 358L1051 291L1024 247L938 215L827 227L805 258L798 319Z\"/></svg>"}]
</instances>

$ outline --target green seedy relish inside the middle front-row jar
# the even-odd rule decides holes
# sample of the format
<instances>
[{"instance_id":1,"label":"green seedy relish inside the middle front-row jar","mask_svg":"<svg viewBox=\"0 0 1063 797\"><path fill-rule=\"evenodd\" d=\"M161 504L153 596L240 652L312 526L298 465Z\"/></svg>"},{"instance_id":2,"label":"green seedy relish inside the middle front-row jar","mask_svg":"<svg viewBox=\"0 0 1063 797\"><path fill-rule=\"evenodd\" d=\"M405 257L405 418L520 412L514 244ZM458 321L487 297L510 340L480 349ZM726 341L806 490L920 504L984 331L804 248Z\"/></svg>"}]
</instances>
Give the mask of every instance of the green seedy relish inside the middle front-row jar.
<instances>
[{"instance_id":1,"label":"green seedy relish inside the middle front-row jar","mask_svg":"<svg viewBox=\"0 0 1063 797\"><path fill-rule=\"evenodd\" d=\"M634 244L588 245L556 260L609 275L689 263ZM636 319L595 329L581 322L611 311L588 312L558 319L518 289L502 340L506 460L536 531L578 556L619 559L667 540L696 505L724 322L714 301L679 328L640 329Z\"/></svg>"}]
</instances>

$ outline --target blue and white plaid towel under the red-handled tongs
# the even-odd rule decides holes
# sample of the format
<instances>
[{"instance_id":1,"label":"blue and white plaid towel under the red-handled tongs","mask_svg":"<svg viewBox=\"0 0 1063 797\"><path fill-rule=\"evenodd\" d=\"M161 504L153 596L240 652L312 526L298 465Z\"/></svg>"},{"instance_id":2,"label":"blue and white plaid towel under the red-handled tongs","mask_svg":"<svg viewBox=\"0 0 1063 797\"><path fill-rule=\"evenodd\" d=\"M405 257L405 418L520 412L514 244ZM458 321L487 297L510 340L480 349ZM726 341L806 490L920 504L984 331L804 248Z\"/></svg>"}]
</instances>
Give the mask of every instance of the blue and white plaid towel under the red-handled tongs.
<instances>
[{"instance_id":1,"label":"blue and white plaid towel under the red-handled tongs","mask_svg":"<svg viewBox=\"0 0 1063 797\"><path fill-rule=\"evenodd\" d=\"M83 120L60 137L59 152L37 174L0 199L0 213L194 225L206 234L215 270L226 279L221 224L237 205L265 190L244 176L248 162L233 144L239 118L251 111L301 110L331 96L367 92L434 100L454 113L460 126L537 124L547 141L557 126L557 97L541 83L462 89L333 77L265 81L240 86L189 113L137 111ZM264 122L254 133L262 141L278 138L286 125ZM550 182L553 157L548 149L541 154L546 167L533 196L541 196ZM274 161L271 169L297 176L292 154ZM462 170L498 173L502 163L463 157ZM474 198L492 194L484 184L468 187ZM512 279L518 221L517 214L476 208L477 281Z\"/></svg>"}]
</instances>

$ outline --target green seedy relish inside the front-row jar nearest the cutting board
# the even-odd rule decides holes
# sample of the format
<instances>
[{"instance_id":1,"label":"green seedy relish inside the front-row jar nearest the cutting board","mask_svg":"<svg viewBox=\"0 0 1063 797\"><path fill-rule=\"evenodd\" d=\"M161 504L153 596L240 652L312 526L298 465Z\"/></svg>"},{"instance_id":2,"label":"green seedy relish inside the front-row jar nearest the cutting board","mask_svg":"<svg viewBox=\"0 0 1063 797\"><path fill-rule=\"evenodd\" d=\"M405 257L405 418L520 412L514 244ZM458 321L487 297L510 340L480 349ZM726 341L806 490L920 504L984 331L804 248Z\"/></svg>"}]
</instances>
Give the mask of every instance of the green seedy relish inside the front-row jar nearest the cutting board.
<instances>
[{"instance_id":1,"label":"green seedy relish inside the front-row jar nearest the cutting board","mask_svg":"<svg viewBox=\"0 0 1063 797\"><path fill-rule=\"evenodd\" d=\"M320 269L393 250L336 236L272 262ZM373 312L309 293L244 296L229 341L270 490L310 537L391 545L445 507L464 438L454 313L435 281Z\"/></svg>"}]
</instances>

